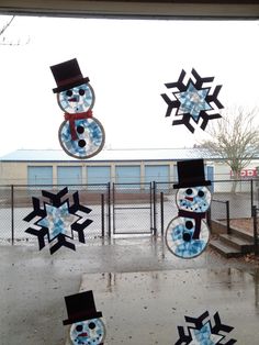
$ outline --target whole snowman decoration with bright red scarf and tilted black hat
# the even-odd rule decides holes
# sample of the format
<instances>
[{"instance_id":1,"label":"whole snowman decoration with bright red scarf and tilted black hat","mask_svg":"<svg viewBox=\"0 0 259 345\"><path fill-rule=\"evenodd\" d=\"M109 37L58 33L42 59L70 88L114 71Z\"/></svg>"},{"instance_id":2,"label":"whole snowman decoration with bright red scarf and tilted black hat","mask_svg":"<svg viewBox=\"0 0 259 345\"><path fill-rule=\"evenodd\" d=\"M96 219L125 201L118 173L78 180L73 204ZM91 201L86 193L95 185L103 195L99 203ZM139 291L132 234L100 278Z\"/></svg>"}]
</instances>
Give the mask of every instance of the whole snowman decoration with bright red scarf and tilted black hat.
<instances>
[{"instance_id":1,"label":"whole snowman decoration with bright red scarf and tilted black hat","mask_svg":"<svg viewBox=\"0 0 259 345\"><path fill-rule=\"evenodd\" d=\"M58 131L63 149L78 159L97 155L104 145L102 124L92 115L94 91L89 78L83 78L76 58L50 66L57 87L57 103L65 112Z\"/></svg>"}]
</instances>

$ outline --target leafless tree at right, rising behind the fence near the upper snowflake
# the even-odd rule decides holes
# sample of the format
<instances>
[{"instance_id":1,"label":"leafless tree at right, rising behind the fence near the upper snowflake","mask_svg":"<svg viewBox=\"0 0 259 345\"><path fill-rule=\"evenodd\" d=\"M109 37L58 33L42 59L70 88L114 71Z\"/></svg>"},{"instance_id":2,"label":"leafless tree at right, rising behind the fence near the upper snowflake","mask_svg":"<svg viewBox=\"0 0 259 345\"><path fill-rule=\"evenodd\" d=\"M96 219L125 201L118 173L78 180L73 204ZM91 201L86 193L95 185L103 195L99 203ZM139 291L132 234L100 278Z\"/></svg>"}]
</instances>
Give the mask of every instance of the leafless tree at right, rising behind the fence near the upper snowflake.
<instances>
[{"instance_id":1,"label":"leafless tree at right, rising behind the fence near the upper snowflake","mask_svg":"<svg viewBox=\"0 0 259 345\"><path fill-rule=\"evenodd\" d=\"M236 180L241 170L259 153L259 127L255 123L258 109L245 111L243 108L226 110L224 118L209 126L211 140L203 141L201 146L224 158L230 167L234 181L232 192L236 192Z\"/></svg>"}]
</instances>

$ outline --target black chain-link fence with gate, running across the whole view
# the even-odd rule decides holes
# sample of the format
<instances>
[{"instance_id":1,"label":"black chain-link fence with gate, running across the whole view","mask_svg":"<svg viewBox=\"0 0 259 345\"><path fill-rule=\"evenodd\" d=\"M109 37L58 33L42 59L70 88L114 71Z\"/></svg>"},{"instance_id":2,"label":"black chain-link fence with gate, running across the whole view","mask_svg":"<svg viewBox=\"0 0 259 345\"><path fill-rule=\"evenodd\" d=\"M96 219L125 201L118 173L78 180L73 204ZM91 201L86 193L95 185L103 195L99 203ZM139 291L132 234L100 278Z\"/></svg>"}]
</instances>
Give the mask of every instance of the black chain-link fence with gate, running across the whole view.
<instances>
[{"instance_id":1,"label":"black chain-link fence with gate, running across the whole view","mask_svg":"<svg viewBox=\"0 0 259 345\"><path fill-rule=\"evenodd\" d=\"M233 182L236 192L232 192ZM164 235L168 223L178 214L176 182L70 185L67 198L78 191L80 203L91 209L93 222L86 229L87 238L120 234ZM65 186L0 186L0 241L35 241L25 233L30 226L23 219L33 211L32 199L49 202L42 191L58 192ZM252 205L259 208L259 181L215 180L210 187L212 220L251 218Z\"/></svg>"}]
</instances>

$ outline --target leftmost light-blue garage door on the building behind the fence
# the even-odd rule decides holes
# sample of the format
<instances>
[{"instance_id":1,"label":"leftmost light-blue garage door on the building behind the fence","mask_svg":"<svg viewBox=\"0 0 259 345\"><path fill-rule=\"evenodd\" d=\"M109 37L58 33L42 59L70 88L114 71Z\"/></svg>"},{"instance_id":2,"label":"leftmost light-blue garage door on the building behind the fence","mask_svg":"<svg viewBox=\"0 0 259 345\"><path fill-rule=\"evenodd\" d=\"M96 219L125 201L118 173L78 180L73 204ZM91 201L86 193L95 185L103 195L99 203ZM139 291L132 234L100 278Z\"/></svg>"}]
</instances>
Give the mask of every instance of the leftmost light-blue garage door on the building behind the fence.
<instances>
[{"instance_id":1,"label":"leftmost light-blue garage door on the building behind the fence","mask_svg":"<svg viewBox=\"0 0 259 345\"><path fill-rule=\"evenodd\" d=\"M53 185L53 167L27 167L27 183L29 185Z\"/></svg>"}]
</instances>

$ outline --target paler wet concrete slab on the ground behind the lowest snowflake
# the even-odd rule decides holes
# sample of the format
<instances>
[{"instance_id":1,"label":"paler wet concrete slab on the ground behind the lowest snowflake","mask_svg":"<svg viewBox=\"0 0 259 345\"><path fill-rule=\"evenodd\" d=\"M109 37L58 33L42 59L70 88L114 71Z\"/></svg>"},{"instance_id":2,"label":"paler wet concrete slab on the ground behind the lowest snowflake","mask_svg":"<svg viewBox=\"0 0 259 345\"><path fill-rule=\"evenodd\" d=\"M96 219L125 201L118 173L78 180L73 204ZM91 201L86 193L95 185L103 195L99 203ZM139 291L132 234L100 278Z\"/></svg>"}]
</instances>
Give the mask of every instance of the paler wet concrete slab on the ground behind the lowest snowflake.
<instances>
[{"instance_id":1,"label":"paler wet concrete slab on the ground behind the lowest snowflake","mask_svg":"<svg viewBox=\"0 0 259 345\"><path fill-rule=\"evenodd\" d=\"M238 344L259 344L259 270L236 268L85 274L93 290L108 344L174 344L184 315L219 313ZM226 340L227 340L226 335Z\"/></svg>"}]
</instances>

